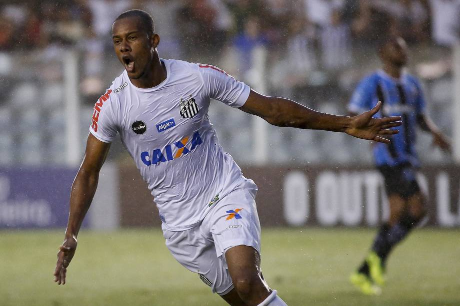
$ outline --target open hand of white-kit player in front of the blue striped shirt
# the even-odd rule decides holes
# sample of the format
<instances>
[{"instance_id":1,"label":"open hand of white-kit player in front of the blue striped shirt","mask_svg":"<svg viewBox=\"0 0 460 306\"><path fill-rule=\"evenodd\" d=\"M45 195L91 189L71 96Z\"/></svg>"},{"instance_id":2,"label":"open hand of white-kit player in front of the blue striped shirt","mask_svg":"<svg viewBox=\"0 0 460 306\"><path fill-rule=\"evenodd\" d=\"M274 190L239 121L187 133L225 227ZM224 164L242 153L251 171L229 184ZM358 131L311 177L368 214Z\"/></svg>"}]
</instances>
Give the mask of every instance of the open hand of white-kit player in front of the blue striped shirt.
<instances>
[{"instance_id":1,"label":"open hand of white-kit player in front of the blue striped shirt","mask_svg":"<svg viewBox=\"0 0 460 306\"><path fill-rule=\"evenodd\" d=\"M391 130L390 128L401 125L401 117L372 118L380 107L381 102L378 101L377 105L371 110L351 117L350 125L345 129L345 133L361 139L389 143L389 139L383 138L382 136L397 134L399 132L398 130Z\"/></svg>"}]
</instances>

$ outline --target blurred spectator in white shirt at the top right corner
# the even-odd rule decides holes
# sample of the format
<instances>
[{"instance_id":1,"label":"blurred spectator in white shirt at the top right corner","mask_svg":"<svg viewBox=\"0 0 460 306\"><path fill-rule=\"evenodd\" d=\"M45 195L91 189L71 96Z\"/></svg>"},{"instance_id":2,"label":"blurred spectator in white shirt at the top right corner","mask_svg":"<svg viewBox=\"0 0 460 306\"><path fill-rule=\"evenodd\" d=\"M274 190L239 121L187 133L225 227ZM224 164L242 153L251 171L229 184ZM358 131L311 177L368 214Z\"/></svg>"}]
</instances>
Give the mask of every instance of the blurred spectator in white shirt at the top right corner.
<instances>
[{"instance_id":1,"label":"blurred spectator in white shirt at the top right corner","mask_svg":"<svg viewBox=\"0 0 460 306\"><path fill-rule=\"evenodd\" d=\"M452 46L460 39L460 0L430 0L434 42Z\"/></svg>"}]
</instances>

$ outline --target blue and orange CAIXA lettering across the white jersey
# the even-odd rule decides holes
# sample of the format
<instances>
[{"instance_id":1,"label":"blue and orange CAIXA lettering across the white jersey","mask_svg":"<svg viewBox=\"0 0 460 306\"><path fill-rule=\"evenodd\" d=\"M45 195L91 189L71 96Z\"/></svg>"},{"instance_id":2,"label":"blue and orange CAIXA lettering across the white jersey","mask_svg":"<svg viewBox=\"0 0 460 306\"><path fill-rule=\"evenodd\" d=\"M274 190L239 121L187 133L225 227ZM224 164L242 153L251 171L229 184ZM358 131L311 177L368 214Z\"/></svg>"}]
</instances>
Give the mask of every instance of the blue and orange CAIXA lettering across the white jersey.
<instances>
[{"instance_id":1,"label":"blue and orange CAIXA lettering across the white jersey","mask_svg":"<svg viewBox=\"0 0 460 306\"><path fill-rule=\"evenodd\" d=\"M190 142L188 142L189 138L190 137L185 137L180 141L168 144L163 149L154 149L151 151L151 154L148 151L144 151L140 153L140 160L145 164L145 166L156 165L161 162L164 163L183 155L187 155L193 151L196 146L203 143L198 131L193 133Z\"/></svg>"}]
</instances>

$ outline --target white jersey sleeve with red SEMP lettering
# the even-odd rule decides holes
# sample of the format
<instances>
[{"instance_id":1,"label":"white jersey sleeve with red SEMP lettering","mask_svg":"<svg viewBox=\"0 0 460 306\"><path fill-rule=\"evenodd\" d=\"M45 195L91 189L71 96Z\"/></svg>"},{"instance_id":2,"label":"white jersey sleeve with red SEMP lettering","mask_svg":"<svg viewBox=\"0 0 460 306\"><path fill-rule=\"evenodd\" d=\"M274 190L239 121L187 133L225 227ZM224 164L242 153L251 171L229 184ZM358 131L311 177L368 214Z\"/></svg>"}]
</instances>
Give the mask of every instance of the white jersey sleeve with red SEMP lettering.
<instances>
[{"instance_id":1,"label":"white jersey sleeve with red SEMP lettering","mask_svg":"<svg viewBox=\"0 0 460 306\"><path fill-rule=\"evenodd\" d=\"M112 142L116 136L117 123L114 118L115 98L111 89L107 89L92 109L92 121L89 132L102 142Z\"/></svg>"}]
</instances>

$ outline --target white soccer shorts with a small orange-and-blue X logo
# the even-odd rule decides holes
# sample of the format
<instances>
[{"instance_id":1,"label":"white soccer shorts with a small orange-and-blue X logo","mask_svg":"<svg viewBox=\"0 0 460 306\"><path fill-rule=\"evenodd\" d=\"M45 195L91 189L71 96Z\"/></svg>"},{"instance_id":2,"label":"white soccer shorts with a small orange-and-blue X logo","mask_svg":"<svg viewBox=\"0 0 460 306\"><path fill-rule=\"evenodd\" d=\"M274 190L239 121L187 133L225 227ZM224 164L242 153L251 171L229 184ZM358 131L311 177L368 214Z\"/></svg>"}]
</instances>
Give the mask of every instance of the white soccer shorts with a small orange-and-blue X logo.
<instances>
[{"instance_id":1,"label":"white soccer shorts with a small orange-and-blue X logo","mask_svg":"<svg viewBox=\"0 0 460 306\"><path fill-rule=\"evenodd\" d=\"M246 245L260 254L260 223L255 206L257 186L246 180L214 205L203 221L192 229L173 232L163 229L172 256L199 278L213 293L226 295L233 289L225 262L225 251Z\"/></svg>"}]
</instances>

